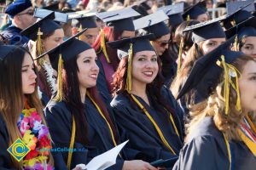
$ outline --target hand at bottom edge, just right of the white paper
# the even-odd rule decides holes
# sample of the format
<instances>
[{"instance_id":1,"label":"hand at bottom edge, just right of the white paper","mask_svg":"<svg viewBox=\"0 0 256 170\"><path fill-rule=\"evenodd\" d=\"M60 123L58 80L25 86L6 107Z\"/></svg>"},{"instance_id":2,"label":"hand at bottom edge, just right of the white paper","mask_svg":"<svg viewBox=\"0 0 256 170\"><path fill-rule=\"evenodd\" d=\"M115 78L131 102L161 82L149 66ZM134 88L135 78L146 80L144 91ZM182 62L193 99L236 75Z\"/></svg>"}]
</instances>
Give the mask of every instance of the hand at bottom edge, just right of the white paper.
<instances>
[{"instance_id":1,"label":"hand at bottom edge, just right of the white paper","mask_svg":"<svg viewBox=\"0 0 256 170\"><path fill-rule=\"evenodd\" d=\"M133 160L125 161L122 170L157 170L157 168L146 161Z\"/></svg>"}]
</instances>

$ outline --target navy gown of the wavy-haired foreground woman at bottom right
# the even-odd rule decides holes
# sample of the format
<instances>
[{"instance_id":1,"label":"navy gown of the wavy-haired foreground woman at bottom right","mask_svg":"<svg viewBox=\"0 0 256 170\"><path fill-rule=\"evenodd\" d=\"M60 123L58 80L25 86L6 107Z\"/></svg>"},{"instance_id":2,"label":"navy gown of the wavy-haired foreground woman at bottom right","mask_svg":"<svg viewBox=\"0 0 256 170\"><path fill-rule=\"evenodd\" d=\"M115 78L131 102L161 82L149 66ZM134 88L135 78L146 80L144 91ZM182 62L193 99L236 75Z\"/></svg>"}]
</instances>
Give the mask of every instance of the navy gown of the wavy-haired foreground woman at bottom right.
<instances>
[{"instance_id":1,"label":"navy gown of the wavy-haired foreground woman at bottom right","mask_svg":"<svg viewBox=\"0 0 256 170\"><path fill-rule=\"evenodd\" d=\"M229 169L228 150L223 133L218 131L212 117L205 117L189 136L173 170ZM232 162L236 170L253 170L256 158L243 142L230 142Z\"/></svg>"}]
</instances>

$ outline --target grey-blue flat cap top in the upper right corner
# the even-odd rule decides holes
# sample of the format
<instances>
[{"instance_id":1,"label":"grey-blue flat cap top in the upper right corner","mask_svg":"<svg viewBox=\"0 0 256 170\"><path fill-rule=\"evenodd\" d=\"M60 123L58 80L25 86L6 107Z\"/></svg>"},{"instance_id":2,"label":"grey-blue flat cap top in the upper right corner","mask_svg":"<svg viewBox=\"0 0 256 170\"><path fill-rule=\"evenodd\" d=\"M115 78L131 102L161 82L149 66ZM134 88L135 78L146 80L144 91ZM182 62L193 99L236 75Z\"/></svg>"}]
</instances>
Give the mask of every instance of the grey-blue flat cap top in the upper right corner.
<instances>
[{"instance_id":1,"label":"grey-blue flat cap top in the upper right corner","mask_svg":"<svg viewBox=\"0 0 256 170\"><path fill-rule=\"evenodd\" d=\"M227 14L233 14L240 8L243 8L243 10L246 10L248 12L255 11L254 7L254 0L246 0L246 1L235 1L235 2L228 2L226 3L227 7Z\"/></svg>"}]
</instances>

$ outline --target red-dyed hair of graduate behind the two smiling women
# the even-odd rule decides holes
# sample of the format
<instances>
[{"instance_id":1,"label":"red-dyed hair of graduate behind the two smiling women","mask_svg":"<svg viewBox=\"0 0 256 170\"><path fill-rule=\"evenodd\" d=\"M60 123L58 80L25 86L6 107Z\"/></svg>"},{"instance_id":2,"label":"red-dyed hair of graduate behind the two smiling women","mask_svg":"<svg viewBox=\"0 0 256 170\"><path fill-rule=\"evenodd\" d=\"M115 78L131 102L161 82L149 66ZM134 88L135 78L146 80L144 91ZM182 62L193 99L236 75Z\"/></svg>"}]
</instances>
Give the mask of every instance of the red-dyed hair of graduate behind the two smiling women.
<instances>
[{"instance_id":1,"label":"red-dyed hair of graduate behind the two smiling women","mask_svg":"<svg viewBox=\"0 0 256 170\"><path fill-rule=\"evenodd\" d=\"M120 39L122 32L117 31L114 27L105 26L102 30L104 32L105 42L112 42ZM101 45L101 33L96 37L96 41L91 45L95 49L97 56L102 54L102 45ZM114 71L119 65L119 58L117 56L117 50L109 48L106 44L108 58L110 59L111 64L113 65Z\"/></svg>"}]
</instances>

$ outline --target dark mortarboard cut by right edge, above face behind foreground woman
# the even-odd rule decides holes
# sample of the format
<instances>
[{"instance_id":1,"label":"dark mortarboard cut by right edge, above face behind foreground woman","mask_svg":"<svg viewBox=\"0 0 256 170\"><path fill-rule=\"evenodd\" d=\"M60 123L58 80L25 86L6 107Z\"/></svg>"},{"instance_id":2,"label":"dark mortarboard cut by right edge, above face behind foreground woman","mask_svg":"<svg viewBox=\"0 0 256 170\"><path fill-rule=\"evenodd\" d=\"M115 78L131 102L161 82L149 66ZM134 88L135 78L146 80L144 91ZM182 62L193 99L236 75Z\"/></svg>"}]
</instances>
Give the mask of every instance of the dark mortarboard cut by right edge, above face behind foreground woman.
<instances>
[{"instance_id":1,"label":"dark mortarboard cut by right edge, above face behind foreground woman","mask_svg":"<svg viewBox=\"0 0 256 170\"><path fill-rule=\"evenodd\" d=\"M227 37L233 37L237 34L238 39L242 37L256 37L256 17L250 17L247 20L233 26L225 31Z\"/></svg>"}]
</instances>

